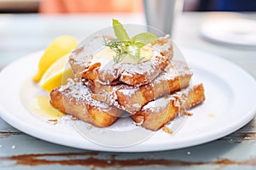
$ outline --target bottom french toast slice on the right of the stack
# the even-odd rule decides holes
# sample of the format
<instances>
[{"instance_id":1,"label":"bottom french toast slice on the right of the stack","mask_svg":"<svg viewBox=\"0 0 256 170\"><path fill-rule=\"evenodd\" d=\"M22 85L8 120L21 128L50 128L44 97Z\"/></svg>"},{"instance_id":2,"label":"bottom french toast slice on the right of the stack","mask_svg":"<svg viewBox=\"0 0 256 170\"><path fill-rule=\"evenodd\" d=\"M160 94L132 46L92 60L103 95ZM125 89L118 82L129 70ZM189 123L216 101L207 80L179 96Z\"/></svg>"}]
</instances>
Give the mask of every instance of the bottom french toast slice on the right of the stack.
<instances>
[{"instance_id":1,"label":"bottom french toast slice on the right of the stack","mask_svg":"<svg viewBox=\"0 0 256 170\"><path fill-rule=\"evenodd\" d=\"M205 100L202 84L185 88L175 94L155 99L144 105L141 111L131 114L137 125L156 131L178 115L186 115L195 105Z\"/></svg>"}]
</instances>

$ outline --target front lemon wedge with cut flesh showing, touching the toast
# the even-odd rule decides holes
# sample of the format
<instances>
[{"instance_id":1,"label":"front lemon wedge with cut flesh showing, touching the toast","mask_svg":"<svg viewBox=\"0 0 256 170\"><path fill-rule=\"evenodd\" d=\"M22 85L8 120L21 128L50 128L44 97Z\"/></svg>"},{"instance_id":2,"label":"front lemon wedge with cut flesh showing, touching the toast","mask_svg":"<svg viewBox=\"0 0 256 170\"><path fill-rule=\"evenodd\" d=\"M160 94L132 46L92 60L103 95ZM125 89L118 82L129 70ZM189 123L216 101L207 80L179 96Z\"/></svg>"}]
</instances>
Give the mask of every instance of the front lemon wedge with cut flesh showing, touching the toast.
<instances>
[{"instance_id":1,"label":"front lemon wedge with cut flesh showing, touching the toast","mask_svg":"<svg viewBox=\"0 0 256 170\"><path fill-rule=\"evenodd\" d=\"M39 82L39 86L44 90L51 92L54 88L67 83L67 78L73 78L73 70L68 64L69 54L50 65Z\"/></svg>"}]
</instances>

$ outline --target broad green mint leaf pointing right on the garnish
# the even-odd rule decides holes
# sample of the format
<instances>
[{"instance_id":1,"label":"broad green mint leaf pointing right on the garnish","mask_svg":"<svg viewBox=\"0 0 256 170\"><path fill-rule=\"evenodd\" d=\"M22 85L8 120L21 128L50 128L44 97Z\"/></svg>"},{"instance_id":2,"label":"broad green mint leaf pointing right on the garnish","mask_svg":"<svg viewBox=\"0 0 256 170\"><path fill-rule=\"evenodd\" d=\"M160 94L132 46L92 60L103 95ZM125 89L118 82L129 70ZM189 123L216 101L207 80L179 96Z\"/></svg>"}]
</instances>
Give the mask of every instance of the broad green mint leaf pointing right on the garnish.
<instances>
[{"instance_id":1,"label":"broad green mint leaf pointing right on the garnish","mask_svg":"<svg viewBox=\"0 0 256 170\"><path fill-rule=\"evenodd\" d=\"M144 45L154 42L157 39L158 37L156 37L154 34L150 32L143 32L132 37L131 42L138 48L142 48Z\"/></svg>"}]
</instances>

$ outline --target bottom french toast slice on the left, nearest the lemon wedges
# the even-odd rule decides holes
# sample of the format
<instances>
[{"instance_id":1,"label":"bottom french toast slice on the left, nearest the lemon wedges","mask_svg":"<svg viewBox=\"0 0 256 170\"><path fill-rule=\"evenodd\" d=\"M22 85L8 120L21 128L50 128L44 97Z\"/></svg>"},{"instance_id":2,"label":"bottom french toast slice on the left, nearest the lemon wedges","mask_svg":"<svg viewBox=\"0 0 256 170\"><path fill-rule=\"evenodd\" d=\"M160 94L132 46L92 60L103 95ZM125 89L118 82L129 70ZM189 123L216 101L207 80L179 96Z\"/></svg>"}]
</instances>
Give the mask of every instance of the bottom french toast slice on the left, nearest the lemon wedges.
<instances>
[{"instance_id":1,"label":"bottom french toast slice on the left, nearest the lemon wedges","mask_svg":"<svg viewBox=\"0 0 256 170\"><path fill-rule=\"evenodd\" d=\"M108 127L123 111L91 98L90 88L82 82L68 82L50 93L50 104L57 110L78 117L96 127Z\"/></svg>"}]
</instances>

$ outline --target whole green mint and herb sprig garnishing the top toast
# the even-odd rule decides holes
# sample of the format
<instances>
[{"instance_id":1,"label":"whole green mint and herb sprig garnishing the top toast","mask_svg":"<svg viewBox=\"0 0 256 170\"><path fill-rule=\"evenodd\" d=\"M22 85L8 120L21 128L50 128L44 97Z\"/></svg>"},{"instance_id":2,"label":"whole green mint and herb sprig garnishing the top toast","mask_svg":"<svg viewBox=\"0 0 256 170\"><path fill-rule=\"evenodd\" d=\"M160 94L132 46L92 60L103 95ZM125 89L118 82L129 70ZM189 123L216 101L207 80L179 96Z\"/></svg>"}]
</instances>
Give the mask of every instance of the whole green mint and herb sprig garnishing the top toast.
<instances>
[{"instance_id":1,"label":"whole green mint and herb sprig garnishing the top toast","mask_svg":"<svg viewBox=\"0 0 256 170\"><path fill-rule=\"evenodd\" d=\"M140 49L146 44L158 39L158 37L150 32L143 32L130 38L119 20L114 19L113 31L117 39L110 42L105 41L105 46L108 46L115 52L115 55L113 56L113 61L115 63L124 59L127 54L131 56L131 58L136 59L139 63L143 59L143 57L140 56Z\"/></svg>"}]
</instances>

